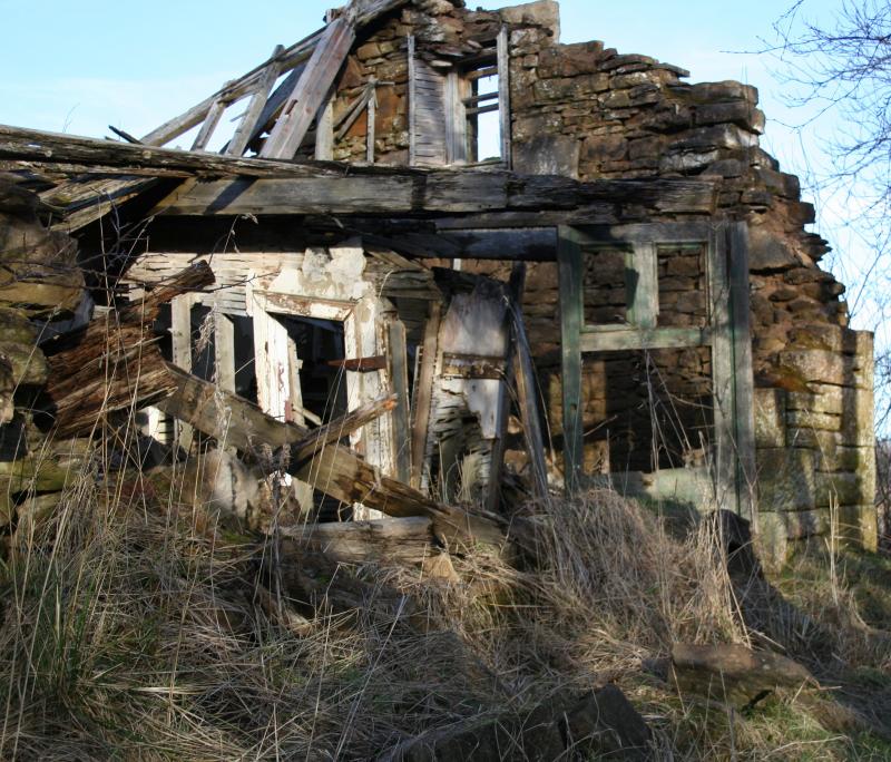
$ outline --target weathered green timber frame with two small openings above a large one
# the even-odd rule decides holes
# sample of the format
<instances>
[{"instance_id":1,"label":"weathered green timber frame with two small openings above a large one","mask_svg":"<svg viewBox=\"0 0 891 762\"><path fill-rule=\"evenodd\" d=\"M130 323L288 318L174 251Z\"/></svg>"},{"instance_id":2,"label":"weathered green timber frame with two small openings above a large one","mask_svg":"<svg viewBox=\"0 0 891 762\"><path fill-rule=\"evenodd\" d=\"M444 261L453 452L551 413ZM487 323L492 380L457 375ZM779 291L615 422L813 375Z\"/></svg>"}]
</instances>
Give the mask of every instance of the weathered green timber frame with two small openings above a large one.
<instances>
[{"instance_id":1,"label":"weathered green timber frame with two small openings above a large one","mask_svg":"<svg viewBox=\"0 0 891 762\"><path fill-rule=\"evenodd\" d=\"M715 417L709 458L714 499L719 507L751 518L755 504L755 439L745 223L560 226L558 238L566 489L576 491L586 481L579 409L582 353L707 346L712 354ZM657 326L656 248L666 244L705 248L709 304L706 326ZM616 246L627 250L627 323L586 324L582 260L597 256L598 250ZM617 479L620 481L620 476Z\"/></svg>"}]
</instances>

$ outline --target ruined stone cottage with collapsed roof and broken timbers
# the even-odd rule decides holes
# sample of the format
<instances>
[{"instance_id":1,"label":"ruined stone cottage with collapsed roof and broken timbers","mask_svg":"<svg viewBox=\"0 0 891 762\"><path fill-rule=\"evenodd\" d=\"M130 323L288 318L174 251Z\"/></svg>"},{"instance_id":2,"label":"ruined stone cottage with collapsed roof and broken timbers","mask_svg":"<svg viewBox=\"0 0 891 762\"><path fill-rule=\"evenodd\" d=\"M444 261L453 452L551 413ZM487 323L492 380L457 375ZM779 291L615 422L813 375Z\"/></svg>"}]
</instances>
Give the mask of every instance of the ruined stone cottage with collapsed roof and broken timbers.
<instances>
[{"instance_id":1,"label":"ruined stone cottage with collapsed roof and broken timbers","mask_svg":"<svg viewBox=\"0 0 891 762\"><path fill-rule=\"evenodd\" d=\"M755 88L687 76L561 45L552 1L354 0L146 136L0 127L8 520L58 489L9 463L90 437L91 379L184 450L303 442L304 510L479 528L609 483L777 558L833 522L874 547L872 338ZM57 348L117 314L106 377L107 346Z\"/></svg>"}]
</instances>

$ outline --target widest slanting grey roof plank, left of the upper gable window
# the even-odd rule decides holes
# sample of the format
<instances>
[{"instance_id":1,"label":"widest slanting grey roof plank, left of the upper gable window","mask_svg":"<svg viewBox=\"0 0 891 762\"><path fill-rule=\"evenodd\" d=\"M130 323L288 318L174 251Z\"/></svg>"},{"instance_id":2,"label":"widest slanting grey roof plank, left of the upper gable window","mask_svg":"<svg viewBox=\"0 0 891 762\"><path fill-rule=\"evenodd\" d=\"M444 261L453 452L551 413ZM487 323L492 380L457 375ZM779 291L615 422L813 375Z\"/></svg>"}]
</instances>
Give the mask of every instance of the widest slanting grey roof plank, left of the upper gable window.
<instances>
[{"instance_id":1,"label":"widest slanting grey roof plank, left of the upper gable window","mask_svg":"<svg viewBox=\"0 0 891 762\"><path fill-rule=\"evenodd\" d=\"M355 28L343 18L325 28L260 153L262 157L294 157L354 41Z\"/></svg>"}]
</instances>

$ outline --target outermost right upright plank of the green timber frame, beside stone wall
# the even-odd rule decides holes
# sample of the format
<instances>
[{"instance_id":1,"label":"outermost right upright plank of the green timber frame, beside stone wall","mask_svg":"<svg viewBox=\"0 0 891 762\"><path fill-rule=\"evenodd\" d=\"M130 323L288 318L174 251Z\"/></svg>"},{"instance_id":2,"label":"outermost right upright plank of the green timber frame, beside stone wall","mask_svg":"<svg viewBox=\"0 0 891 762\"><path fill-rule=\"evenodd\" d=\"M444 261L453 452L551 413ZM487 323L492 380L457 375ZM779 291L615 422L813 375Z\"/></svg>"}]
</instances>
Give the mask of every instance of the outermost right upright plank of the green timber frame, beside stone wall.
<instances>
[{"instance_id":1,"label":"outermost right upright plank of the green timber frame, beside stone wall","mask_svg":"<svg viewBox=\"0 0 891 762\"><path fill-rule=\"evenodd\" d=\"M733 392L736 444L736 504L748 520L756 516L757 470L755 465L755 390L750 326L748 226L730 225L730 296L733 342Z\"/></svg>"}]
</instances>

